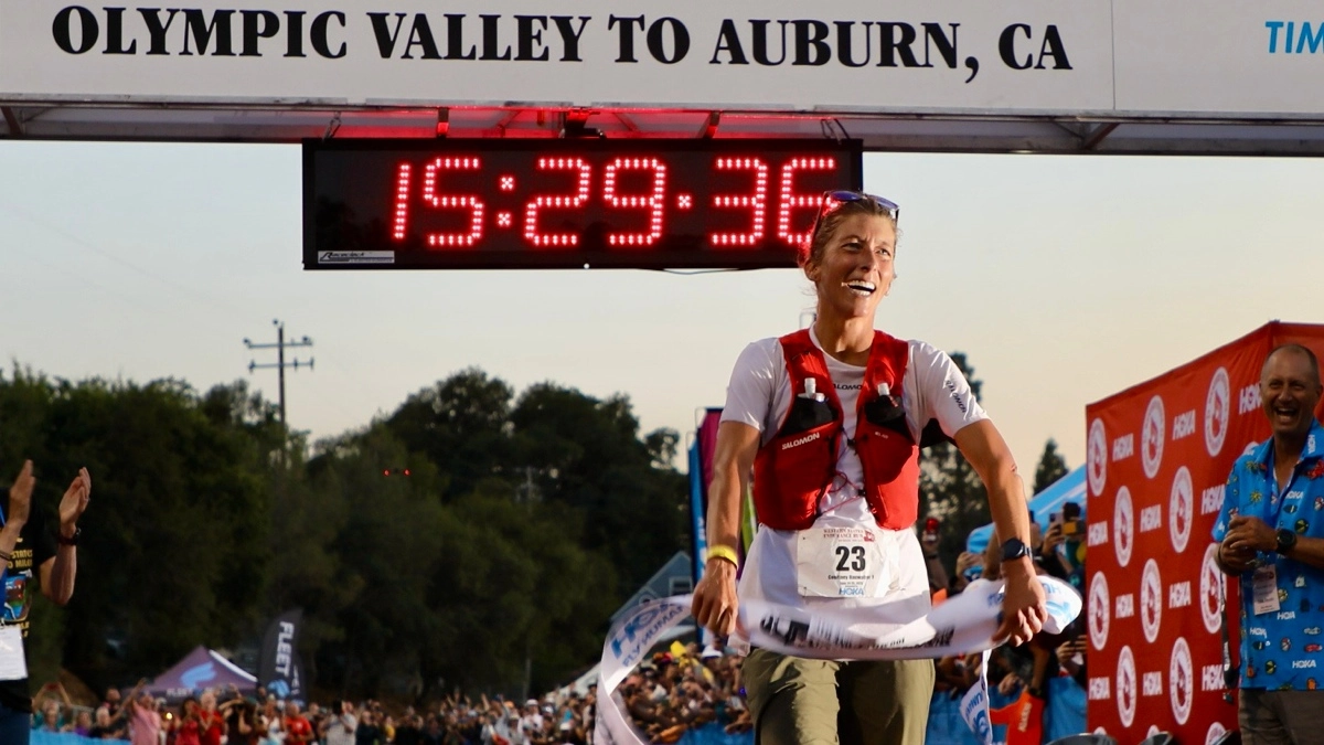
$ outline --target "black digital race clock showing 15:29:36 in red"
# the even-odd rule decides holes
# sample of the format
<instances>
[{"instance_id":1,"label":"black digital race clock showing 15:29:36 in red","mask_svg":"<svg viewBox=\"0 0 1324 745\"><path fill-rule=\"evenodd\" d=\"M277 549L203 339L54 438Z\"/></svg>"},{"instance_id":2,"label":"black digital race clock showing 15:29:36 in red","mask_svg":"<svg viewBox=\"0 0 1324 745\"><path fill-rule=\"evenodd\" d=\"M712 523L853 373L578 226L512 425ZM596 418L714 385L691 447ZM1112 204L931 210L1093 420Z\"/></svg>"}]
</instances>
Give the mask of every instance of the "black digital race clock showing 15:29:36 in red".
<instances>
[{"instance_id":1,"label":"black digital race clock showing 15:29:36 in red","mask_svg":"<svg viewBox=\"0 0 1324 745\"><path fill-rule=\"evenodd\" d=\"M858 142L303 144L305 269L794 266Z\"/></svg>"}]
</instances>

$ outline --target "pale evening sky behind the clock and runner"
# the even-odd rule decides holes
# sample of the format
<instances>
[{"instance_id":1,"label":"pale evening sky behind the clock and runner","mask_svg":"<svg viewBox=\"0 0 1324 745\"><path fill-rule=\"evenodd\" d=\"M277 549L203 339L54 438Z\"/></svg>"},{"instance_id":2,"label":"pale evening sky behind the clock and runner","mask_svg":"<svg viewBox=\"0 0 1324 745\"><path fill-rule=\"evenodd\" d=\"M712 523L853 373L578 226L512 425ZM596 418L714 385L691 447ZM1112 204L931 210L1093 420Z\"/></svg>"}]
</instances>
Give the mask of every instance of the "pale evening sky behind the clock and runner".
<instances>
[{"instance_id":1,"label":"pale evening sky behind the clock and runner","mask_svg":"<svg viewBox=\"0 0 1324 745\"><path fill-rule=\"evenodd\" d=\"M298 146L4 141L0 172L7 375L248 378L275 400L275 371L248 371L275 353L242 339L279 318L315 343L286 379L314 437L469 366L690 432L744 345L813 305L789 269L303 272ZM967 353L1029 479L1047 437L1074 468L1087 403L1270 319L1324 322L1321 183L1305 158L866 155L902 205L878 327Z\"/></svg>"}]
</instances>

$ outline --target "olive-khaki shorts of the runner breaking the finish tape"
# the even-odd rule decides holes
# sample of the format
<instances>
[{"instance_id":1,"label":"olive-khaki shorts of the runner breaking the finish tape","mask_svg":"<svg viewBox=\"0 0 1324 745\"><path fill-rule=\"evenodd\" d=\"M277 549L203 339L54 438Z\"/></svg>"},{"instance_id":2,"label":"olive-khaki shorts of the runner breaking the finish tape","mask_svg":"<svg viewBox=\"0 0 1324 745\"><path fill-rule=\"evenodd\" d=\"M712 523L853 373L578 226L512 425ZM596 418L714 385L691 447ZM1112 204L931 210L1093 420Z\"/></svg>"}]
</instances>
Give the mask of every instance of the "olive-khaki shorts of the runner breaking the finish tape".
<instances>
[{"instance_id":1,"label":"olive-khaki shorts of the runner breaking the finish tape","mask_svg":"<svg viewBox=\"0 0 1324 745\"><path fill-rule=\"evenodd\" d=\"M933 660L806 660L753 650L741 668L755 745L923 745Z\"/></svg>"}]
</instances>

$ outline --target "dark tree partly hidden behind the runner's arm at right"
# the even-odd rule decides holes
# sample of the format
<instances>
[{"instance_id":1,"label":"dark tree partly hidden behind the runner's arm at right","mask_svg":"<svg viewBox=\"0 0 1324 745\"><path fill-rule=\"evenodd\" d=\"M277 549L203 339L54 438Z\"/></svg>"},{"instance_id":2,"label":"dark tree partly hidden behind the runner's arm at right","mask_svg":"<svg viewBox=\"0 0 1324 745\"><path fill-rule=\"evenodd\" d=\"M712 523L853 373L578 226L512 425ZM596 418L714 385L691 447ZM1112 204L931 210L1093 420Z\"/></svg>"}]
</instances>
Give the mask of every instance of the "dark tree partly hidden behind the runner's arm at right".
<instances>
[{"instance_id":1,"label":"dark tree partly hidden behind the runner's arm at right","mask_svg":"<svg viewBox=\"0 0 1324 745\"><path fill-rule=\"evenodd\" d=\"M974 376L964 353L953 353L952 362L965 374L976 399L984 383ZM939 555L947 567L956 566L956 557L965 550L970 530L988 525L988 492L978 473L952 443L940 443L920 456L919 472L920 518L937 517L943 521Z\"/></svg>"}]
</instances>

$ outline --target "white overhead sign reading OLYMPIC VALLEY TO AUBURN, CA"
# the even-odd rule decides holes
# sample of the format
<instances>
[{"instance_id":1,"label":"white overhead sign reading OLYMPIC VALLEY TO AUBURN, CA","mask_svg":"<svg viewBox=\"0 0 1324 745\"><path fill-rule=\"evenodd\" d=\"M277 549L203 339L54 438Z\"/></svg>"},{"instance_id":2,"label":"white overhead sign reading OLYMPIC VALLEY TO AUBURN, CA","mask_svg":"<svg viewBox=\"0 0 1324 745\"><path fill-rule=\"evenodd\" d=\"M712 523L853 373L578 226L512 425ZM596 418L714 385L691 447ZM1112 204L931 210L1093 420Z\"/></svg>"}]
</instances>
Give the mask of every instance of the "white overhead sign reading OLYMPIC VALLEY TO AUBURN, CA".
<instances>
[{"instance_id":1,"label":"white overhead sign reading OLYMPIC VALLEY TO AUBURN, CA","mask_svg":"<svg viewBox=\"0 0 1324 745\"><path fill-rule=\"evenodd\" d=\"M0 0L0 101L1292 117L1305 0Z\"/></svg>"}]
</instances>

